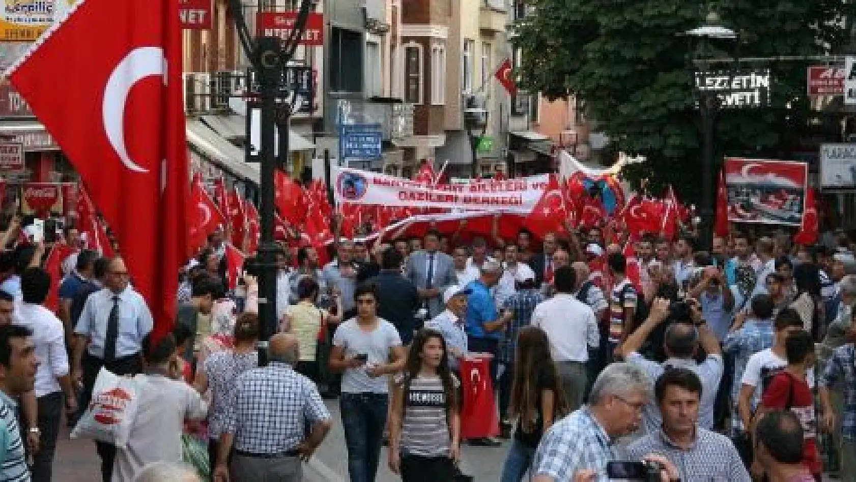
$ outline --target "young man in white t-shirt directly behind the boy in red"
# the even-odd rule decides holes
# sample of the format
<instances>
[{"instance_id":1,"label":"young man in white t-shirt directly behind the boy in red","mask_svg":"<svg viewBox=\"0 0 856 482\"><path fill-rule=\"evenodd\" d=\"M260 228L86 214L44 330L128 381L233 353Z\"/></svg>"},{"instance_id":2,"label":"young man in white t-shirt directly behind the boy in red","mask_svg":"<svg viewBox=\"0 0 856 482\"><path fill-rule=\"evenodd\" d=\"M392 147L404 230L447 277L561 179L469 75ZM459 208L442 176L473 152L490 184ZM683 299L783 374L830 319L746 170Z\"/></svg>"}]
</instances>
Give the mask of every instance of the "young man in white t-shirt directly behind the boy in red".
<instances>
[{"instance_id":1,"label":"young man in white t-shirt directly behind the boy in red","mask_svg":"<svg viewBox=\"0 0 856 482\"><path fill-rule=\"evenodd\" d=\"M749 361L746 362L746 370L743 372L737 409L740 412L740 420L743 421L745 427L751 426L752 417L761 396L764 394L764 388L773 379L773 375L788 366L785 340L788 339L791 332L799 332L803 329L800 314L789 308L782 309L779 314L776 314L774 326L776 334L773 348L758 351L758 353L750 356ZM809 370L806 379L809 386L814 386L813 370Z\"/></svg>"}]
</instances>

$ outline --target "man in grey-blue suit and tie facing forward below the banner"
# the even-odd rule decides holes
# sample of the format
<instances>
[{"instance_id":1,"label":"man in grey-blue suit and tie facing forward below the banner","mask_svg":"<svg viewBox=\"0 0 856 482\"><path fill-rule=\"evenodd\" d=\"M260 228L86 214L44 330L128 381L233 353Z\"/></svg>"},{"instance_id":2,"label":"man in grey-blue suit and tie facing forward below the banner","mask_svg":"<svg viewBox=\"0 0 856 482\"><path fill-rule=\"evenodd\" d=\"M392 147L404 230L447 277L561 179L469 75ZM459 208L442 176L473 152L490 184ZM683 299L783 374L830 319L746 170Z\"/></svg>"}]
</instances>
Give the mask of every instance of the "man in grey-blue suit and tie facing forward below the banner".
<instances>
[{"instance_id":1,"label":"man in grey-blue suit and tie facing forward below the banner","mask_svg":"<svg viewBox=\"0 0 856 482\"><path fill-rule=\"evenodd\" d=\"M440 314L443 309L442 294L449 286L458 284L455 261L452 256L440 251L440 233L431 229L425 233L423 250L414 251L407 258L404 277L413 281L425 308L426 320Z\"/></svg>"}]
</instances>

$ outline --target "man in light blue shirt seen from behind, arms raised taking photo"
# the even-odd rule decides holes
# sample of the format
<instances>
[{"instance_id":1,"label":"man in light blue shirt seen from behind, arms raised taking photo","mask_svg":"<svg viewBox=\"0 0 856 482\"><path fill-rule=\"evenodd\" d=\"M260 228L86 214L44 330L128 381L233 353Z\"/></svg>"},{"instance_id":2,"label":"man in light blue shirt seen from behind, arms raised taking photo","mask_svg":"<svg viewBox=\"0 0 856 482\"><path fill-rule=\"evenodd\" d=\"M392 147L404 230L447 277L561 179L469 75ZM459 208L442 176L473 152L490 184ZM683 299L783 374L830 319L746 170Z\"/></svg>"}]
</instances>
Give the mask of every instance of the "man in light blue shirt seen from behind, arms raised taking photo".
<instances>
[{"instance_id":1,"label":"man in light blue shirt seen from behind, arms raised taking photo","mask_svg":"<svg viewBox=\"0 0 856 482\"><path fill-rule=\"evenodd\" d=\"M639 354L639 349L651 332L664 322L669 323L664 337L667 359L663 363L647 360ZM707 354L700 363L696 361L699 349ZM627 362L638 365L654 380L669 368L682 367L696 373L704 386L698 425L713 430L713 408L724 367L719 341L704 322L696 300L669 303L669 300L656 298L648 318L618 350ZM645 433L656 433L660 429L662 420L656 403L645 406L644 422Z\"/></svg>"}]
</instances>

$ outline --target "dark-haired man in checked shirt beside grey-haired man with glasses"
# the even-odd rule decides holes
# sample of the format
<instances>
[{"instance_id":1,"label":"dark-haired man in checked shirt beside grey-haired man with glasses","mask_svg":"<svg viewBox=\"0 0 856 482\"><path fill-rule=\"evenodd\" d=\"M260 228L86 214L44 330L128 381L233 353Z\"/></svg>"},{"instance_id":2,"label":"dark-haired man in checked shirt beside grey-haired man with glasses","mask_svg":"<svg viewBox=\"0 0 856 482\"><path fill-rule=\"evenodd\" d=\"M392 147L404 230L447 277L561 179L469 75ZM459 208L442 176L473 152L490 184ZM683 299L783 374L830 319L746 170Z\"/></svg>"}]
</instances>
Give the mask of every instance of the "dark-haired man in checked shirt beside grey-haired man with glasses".
<instances>
[{"instance_id":1,"label":"dark-haired man in checked shirt beside grey-haired man with glasses","mask_svg":"<svg viewBox=\"0 0 856 482\"><path fill-rule=\"evenodd\" d=\"M698 426L703 390L702 380L693 371L666 370L654 385L663 426L630 444L628 458L636 460L651 453L665 456L675 462L681 480L750 482L734 444L724 435Z\"/></svg>"}]
</instances>

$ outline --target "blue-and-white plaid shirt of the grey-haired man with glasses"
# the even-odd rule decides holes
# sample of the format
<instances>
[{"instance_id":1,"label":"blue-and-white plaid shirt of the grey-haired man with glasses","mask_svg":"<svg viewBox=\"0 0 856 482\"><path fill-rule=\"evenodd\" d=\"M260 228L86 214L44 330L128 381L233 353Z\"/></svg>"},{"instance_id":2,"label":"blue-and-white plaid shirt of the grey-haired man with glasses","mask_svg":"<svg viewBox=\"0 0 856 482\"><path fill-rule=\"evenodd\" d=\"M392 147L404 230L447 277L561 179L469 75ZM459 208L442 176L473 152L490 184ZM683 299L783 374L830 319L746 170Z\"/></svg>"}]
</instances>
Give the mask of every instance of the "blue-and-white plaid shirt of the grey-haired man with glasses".
<instances>
[{"instance_id":1,"label":"blue-and-white plaid shirt of the grey-haired man with glasses","mask_svg":"<svg viewBox=\"0 0 856 482\"><path fill-rule=\"evenodd\" d=\"M621 454L588 407L556 422L544 434L532 459L532 477L545 475L556 480L572 480L574 473L589 468L597 482L607 482L606 464L621 460Z\"/></svg>"}]
</instances>

